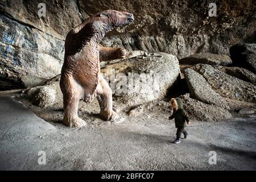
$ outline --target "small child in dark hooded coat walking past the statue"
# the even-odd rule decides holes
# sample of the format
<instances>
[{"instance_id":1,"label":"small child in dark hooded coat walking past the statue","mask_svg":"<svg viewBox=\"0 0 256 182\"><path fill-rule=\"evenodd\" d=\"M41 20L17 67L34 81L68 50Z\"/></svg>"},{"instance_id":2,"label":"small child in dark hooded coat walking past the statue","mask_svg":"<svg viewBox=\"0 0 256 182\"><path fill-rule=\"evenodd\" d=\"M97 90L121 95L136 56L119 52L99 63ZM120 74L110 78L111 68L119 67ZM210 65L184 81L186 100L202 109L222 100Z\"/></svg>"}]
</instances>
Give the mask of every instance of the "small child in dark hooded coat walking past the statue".
<instances>
[{"instance_id":1,"label":"small child in dark hooded coat walking past the statue","mask_svg":"<svg viewBox=\"0 0 256 182\"><path fill-rule=\"evenodd\" d=\"M171 99L172 108L174 113L169 117L169 119L175 118L175 127L177 128L177 138L174 140L174 143L180 143L181 133L184 134L184 138L188 137L188 131L185 130L186 122L189 125L190 121L188 118L187 112L182 108L183 102L181 98L172 98Z\"/></svg>"}]
</instances>

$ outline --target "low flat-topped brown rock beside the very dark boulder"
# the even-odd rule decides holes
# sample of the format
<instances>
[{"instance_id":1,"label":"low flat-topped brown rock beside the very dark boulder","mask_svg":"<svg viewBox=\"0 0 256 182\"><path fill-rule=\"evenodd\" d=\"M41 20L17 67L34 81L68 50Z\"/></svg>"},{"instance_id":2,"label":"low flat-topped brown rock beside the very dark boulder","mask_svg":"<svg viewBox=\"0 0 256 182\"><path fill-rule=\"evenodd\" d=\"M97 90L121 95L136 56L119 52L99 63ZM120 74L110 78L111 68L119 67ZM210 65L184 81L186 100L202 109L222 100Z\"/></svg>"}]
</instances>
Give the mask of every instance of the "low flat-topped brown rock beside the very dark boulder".
<instances>
[{"instance_id":1,"label":"low flat-topped brown rock beside the very dark boulder","mask_svg":"<svg viewBox=\"0 0 256 182\"><path fill-rule=\"evenodd\" d=\"M212 64L212 65L229 65L232 60L228 55L217 55L213 53L197 53L179 60L180 64Z\"/></svg>"}]
</instances>

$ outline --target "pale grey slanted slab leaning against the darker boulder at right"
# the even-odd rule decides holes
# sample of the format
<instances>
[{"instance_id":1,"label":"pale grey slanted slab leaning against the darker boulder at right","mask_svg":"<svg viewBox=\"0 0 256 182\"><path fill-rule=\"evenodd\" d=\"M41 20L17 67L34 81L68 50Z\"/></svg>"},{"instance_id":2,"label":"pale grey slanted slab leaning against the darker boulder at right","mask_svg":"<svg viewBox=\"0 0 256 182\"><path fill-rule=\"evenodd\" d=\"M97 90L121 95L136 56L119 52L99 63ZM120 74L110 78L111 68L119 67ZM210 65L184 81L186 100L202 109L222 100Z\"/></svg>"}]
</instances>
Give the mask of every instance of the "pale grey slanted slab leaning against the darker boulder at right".
<instances>
[{"instance_id":1,"label":"pale grey slanted slab leaning against the darker boulder at right","mask_svg":"<svg viewBox=\"0 0 256 182\"><path fill-rule=\"evenodd\" d=\"M229 109L225 100L220 94L216 93L208 84L203 76L191 68L185 69L185 79L188 84L191 97L207 104L214 104Z\"/></svg>"}]
</instances>

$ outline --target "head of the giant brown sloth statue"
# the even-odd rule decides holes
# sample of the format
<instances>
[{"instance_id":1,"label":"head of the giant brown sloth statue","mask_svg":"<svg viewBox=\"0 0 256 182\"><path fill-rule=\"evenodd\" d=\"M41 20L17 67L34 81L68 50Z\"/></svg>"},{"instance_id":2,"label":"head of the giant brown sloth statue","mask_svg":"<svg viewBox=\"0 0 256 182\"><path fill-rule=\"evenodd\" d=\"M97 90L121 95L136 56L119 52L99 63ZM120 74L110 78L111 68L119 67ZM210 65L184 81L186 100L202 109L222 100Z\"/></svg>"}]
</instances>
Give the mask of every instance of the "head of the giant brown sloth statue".
<instances>
[{"instance_id":1,"label":"head of the giant brown sloth statue","mask_svg":"<svg viewBox=\"0 0 256 182\"><path fill-rule=\"evenodd\" d=\"M101 13L97 13L96 16L100 16L102 22L109 26L113 26L113 28L126 26L134 22L133 14L123 11L106 10Z\"/></svg>"}]
</instances>

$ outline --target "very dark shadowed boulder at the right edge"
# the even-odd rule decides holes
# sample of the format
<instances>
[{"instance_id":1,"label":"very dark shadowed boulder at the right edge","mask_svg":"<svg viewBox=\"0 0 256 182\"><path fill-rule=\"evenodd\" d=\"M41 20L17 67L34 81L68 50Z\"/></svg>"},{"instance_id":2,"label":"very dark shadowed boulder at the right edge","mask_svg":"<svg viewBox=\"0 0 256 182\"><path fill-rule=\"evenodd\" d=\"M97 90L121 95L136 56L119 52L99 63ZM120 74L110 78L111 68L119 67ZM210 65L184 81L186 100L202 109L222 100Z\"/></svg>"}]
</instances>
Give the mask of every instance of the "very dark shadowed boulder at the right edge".
<instances>
[{"instance_id":1,"label":"very dark shadowed boulder at the right edge","mask_svg":"<svg viewBox=\"0 0 256 182\"><path fill-rule=\"evenodd\" d=\"M237 44L229 52L234 65L256 73L256 44Z\"/></svg>"}]
</instances>

